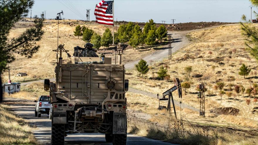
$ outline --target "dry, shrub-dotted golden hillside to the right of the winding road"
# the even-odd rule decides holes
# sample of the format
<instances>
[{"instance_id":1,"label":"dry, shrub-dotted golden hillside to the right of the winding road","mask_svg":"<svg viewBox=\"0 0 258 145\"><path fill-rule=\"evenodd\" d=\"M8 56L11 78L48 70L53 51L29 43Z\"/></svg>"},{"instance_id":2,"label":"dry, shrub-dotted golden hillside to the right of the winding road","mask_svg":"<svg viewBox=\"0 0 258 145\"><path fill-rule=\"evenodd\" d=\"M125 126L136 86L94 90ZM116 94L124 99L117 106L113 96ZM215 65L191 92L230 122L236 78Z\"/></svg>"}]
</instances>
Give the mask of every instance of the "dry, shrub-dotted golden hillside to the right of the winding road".
<instances>
[{"instance_id":1,"label":"dry, shrub-dotted golden hillside to the right of the winding road","mask_svg":"<svg viewBox=\"0 0 258 145\"><path fill-rule=\"evenodd\" d=\"M163 62L149 64L150 70L144 78L136 76L135 69L127 71L126 77L130 80L130 87L161 95L167 88L173 86L173 79L177 77L181 83L192 82L191 88L183 93L182 102L199 108L196 86L202 81L207 83L206 117L199 117L198 112L183 110L183 114L188 120L196 124L257 129L258 103L253 102L255 97L248 96L247 93L240 93L237 96L233 90L235 85L243 85L247 89L258 82L257 61L245 51L240 25L196 31L189 33L187 37L192 41L191 44L174 53L171 61L164 59ZM252 69L246 79L244 76L238 75L242 64ZM170 75L168 80L157 78L157 72L162 65L168 69ZM191 74L184 71L186 66L192 66ZM232 92L233 95L228 98L224 94L220 100L219 90L213 89L216 82L224 82L223 90ZM210 92L210 96L207 95L208 92ZM174 98L178 100L177 93L174 94ZM246 103L247 99L251 100L249 106ZM146 101L142 100L142 102ZM158 106L158 100L153 105ZM231 113L234 112L231 111L234 109L239 112Z\"/></svg>"}]
</instances>

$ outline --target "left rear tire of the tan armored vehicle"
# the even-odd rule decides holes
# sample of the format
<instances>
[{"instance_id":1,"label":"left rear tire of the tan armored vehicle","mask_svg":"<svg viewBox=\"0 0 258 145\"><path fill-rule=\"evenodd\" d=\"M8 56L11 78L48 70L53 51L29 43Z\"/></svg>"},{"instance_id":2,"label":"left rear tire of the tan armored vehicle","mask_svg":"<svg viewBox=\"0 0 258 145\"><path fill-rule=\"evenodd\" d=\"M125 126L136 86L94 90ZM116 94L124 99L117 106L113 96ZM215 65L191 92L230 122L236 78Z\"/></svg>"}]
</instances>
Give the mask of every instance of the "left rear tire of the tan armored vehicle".
<instances>
[{"instance_id":1,"label":"left rear tire of the tan armored vehicle","mask_svg":"<svg viewBox=\"0 0 258 145\"><path fill-rule=\"evenodd\" d=\"M65 124L53 124L51 129L51 144L65 144Z\"/></svg>"}]
</instances>

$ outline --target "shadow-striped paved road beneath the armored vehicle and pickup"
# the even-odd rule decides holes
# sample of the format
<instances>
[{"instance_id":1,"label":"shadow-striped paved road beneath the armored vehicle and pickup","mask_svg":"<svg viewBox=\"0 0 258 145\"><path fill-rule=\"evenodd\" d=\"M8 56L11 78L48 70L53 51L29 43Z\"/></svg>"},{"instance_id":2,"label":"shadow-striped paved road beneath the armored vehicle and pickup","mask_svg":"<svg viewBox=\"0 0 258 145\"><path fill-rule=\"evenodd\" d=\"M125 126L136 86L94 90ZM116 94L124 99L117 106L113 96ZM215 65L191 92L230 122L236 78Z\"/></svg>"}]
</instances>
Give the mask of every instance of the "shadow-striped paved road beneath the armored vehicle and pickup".
<instances>
[{"instance_id":1,"label":"shadow-striped paved road beneath the armored vehicle and pickup","mask_svg":"<svg viewBox=\"0 0 258 145\"><path fill-rule=\"evenodd\" d=\"M20 102L21 99L4 98L3 102ZM51 137L51 120L48 119L48 115L41 115L40 118L35 117L34 110L35 104L33 101L25 100L27 103L13 104L12 110L15 113L26 119L31 125L36 125L37 128L33 131L34 136L38 140L40 145L50 144ZM28 103L31 102L31 103ZM106 143L105 135L100 133L77 133L69 134L65 137L66 145L112 145L112 143ZM133 134L127 135L127 145L176 145L154 139L148 139Z\"/></svg>"}]
</instances>

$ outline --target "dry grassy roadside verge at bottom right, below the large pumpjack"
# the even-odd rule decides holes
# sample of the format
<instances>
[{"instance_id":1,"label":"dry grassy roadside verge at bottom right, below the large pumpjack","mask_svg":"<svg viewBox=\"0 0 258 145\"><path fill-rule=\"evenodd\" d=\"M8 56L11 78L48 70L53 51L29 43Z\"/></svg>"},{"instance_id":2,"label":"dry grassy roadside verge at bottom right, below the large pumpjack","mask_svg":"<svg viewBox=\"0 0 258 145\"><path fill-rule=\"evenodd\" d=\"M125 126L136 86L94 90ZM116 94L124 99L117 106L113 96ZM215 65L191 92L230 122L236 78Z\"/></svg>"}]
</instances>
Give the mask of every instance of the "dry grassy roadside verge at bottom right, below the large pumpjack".
<instances>
[{"instance_id":1,"label":"dry grassy roadside verge at bottom right, below the large pumpjack","mask_svg":"<svg viewBox=\"0 0 258 145\"><path fill-rule=\"evenodd\" d=\"M181 145L256 145L258 143L257 136L250 137L225 130L197 128L185 121L177 122L171 117L167 117L165 121L167 121L166 125L159 126L129 118L128 130L137 135Z\"/></svg>"}]
</instances>

